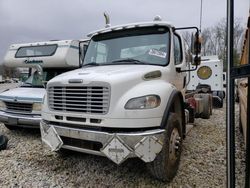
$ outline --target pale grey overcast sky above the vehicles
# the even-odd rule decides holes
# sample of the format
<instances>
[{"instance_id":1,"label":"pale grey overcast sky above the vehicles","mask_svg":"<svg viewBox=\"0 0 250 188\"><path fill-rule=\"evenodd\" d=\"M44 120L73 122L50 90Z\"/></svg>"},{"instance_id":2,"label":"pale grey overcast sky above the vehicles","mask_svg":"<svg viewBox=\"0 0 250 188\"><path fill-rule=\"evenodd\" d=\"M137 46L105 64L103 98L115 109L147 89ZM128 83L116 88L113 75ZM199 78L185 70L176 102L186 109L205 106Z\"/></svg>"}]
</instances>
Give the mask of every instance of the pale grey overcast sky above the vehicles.
<instances>
[{"instance_id":1,"label":"pale grey overcast sky above the vehicles","mask_svg":"<svg viewBox=\"0 0 250 188\"><path fill-rule=\"evenodd\" d=\"M200 24L201 0L0 0L0 62L10 44L80 39L111 25L150 21L160 15L176 27ZM235 17L246 25L249 1L235 0ZM202 28L226 17L226 0L203 0Z\"/></svg>"}]
</instances>

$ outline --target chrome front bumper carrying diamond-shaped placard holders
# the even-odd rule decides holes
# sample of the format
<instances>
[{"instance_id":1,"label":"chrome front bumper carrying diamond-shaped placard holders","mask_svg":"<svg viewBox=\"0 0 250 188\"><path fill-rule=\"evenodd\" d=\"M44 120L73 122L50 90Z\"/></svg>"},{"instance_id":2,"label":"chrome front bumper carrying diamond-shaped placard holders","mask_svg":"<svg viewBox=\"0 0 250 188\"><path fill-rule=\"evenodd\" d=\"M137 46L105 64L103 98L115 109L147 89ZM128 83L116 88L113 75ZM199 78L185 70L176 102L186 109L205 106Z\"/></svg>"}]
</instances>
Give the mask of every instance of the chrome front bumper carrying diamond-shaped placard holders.
<instances>
[{"instance_id":1,"label":"chrome front bumper carrying diamond-shaped placard holders","mask_svg":"<svg viewBox=\"0 0 250 188\"><path fill-rule=\"evenodd\" d=\"M153 161L162 150L165 136L164 129L105 132L58 126L43 120L40 123L40 129L43 142L52 150L59 150L62 147L106 156L116 164L131 157L139 157L144 162Z\"/></svg>"}]
</instances>

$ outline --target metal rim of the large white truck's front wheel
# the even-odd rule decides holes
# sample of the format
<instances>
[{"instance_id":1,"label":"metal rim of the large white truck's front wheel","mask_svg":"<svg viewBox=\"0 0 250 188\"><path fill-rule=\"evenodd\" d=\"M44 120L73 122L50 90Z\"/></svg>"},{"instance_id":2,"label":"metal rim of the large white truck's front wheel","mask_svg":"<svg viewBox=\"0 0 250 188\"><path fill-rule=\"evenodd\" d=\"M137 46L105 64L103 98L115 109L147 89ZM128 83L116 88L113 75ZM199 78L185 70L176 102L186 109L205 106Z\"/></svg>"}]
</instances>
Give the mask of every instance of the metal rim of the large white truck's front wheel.
<instances>
[{"instance_id":1,"label":"metal rim of the large white truck's front wheel","mask_svg":"<svg viewBox=\"0 0 250 188\"><path fill-rule=\"evenodd\" d=\"M181 137L177 128L174 128L169 140L169 159L171 162L175 162L179 157L181 146Z\"/></svg>"}]
</instances>

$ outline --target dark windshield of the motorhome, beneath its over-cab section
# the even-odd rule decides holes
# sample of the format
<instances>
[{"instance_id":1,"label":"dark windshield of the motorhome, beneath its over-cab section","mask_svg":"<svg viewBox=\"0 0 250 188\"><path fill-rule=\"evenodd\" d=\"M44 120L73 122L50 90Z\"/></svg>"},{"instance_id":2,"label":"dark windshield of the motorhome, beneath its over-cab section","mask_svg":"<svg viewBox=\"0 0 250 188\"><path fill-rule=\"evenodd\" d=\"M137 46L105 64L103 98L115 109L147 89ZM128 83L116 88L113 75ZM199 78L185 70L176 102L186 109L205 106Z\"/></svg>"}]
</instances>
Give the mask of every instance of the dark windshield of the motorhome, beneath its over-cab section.
<instances>
[{"instance_id":1,"label":"dark windshield of the motorhome, beneath its over-cab section","mask_svg":"<svg viewBox=\"0 0 250 188\"><path fill-rule=\"evenodd\" d=\"M22 87L44 87L43 84L55 76L69 71L69 69L44 69L43 75L35 71L22 85Z\"/></svg>"}]
</instances>

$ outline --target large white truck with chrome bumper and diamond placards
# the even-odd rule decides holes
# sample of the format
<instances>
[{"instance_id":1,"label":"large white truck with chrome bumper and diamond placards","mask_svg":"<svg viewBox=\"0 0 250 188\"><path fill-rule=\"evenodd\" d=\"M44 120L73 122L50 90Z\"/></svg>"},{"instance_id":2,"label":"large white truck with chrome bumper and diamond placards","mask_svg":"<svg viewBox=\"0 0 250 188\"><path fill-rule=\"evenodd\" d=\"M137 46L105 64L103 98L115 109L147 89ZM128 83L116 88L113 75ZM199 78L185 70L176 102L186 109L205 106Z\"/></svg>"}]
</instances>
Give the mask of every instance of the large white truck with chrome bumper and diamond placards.
<instances>
[{"instance_id":1,"label":"large white truck with chrome bumper and diamond placards","mask_svg":"<svg viewBox=\"0 0 250 188\"><path fill-rule=\"evenodd\" d=\"M192 104L185 102L192 70L177 31L188 28L156 20L91 33L83 67L48 82L40 128L53 151L106 156L116 164L138 157L156 178L175 176L186 123L194 111L211 112L211 97L189 94ZM197 30L198 65L198 29L190 28Z\"/></svg>"}]
</instances>

